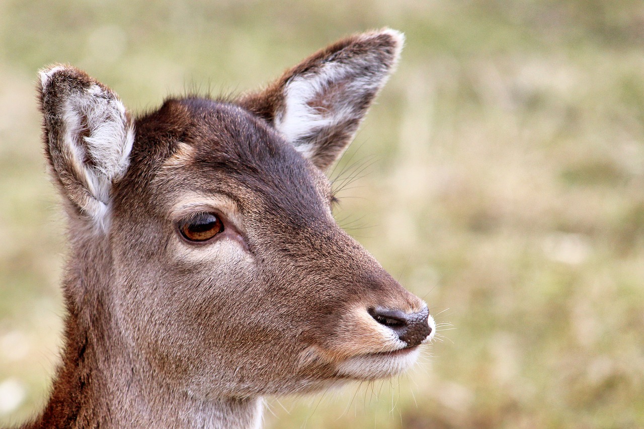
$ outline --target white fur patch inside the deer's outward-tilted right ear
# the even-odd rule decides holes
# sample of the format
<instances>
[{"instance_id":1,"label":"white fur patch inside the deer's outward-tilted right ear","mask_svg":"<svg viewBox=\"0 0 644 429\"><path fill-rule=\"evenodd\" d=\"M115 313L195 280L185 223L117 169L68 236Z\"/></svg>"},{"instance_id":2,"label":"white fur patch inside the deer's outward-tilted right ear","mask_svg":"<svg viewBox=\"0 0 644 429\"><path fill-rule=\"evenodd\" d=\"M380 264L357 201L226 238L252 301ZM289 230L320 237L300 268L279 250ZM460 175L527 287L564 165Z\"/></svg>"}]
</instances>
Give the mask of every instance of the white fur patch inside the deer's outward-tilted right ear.
<instances>
[{"instance_id":1,"label":"white fur patch inside the deer's outward-tilted right ear","mask_svg":"<svg viewBox=\"0 0 644 429\"><path fill-rule=\"evenodd\" d=\"M358 62L358 61L356 61ZM316 73L296 76L287 84L285 109L275 119L276 128L305 157L314 155L314 143L303 140L324 128L332 128L359 115L357 100L364 93L376 91L384 83L382 75L351 75L358 64L327 62ZM334 84L344 84L334 93ZM326 93L325 93L326 92ZM312 107L314 100L330 106Z\"/></svg>"}]
</instances>

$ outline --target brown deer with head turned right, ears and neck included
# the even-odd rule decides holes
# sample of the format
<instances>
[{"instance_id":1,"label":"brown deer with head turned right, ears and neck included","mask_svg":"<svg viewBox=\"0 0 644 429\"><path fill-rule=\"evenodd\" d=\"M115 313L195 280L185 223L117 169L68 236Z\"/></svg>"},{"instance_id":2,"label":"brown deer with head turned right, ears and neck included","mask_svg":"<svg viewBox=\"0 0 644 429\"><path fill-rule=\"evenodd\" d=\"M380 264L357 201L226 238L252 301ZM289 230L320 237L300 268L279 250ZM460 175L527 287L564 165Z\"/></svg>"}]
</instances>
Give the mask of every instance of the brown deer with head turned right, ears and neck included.
<instances>
[{"instance_id":1,"label":"brown deer with head turned right, ears and neck included","mask_svg":"<svg viewBox=\"0 0 644 429\"><path fill-rule=\"evenodd\" d=\"M22 428L260 428L266 397L413 365L428 306L337 225L327 177L403 41L356 33L261 90L139 115L73 66L39 72L66 316Z\"/></svg>"}]
</instances>

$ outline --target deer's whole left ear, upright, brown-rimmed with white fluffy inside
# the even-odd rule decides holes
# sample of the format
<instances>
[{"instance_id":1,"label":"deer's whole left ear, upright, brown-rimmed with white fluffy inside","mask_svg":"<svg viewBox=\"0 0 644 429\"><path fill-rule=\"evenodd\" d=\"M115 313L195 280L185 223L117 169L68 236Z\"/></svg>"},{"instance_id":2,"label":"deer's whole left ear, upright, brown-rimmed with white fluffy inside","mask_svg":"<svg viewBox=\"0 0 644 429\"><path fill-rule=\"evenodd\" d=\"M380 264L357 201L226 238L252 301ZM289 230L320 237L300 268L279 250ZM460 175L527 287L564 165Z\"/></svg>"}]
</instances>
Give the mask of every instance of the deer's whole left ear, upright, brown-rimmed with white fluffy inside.
<instances>
[{"instance_id":1,"label":"deer's whole left ear, upright, brown-rimmed with white fluffy inside","mask_svg":"<svg viewBox=\"0 0 644 429\"><path fill-rule=\"evenodd\" d=\"M40 72L45 152L77 213L104 228L112 185L126 172L133 120L109 88L71 66Z\"/></svg>"}]
</instances>

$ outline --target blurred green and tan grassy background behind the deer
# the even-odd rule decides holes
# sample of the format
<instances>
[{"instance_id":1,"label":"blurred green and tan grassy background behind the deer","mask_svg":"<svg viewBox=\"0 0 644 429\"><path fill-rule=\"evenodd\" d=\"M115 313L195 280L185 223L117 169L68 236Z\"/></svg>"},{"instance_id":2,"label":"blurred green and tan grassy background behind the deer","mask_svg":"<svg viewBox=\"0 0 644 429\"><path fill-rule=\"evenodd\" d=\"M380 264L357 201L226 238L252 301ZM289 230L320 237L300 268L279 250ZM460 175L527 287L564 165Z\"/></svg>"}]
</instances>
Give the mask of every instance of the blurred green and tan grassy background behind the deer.
<instances>
[{"instance_id":1,"label":"blurred green and tan grassy background behind the deer","mask_svg":"<svg viewBox=\"0 0 644 429\"><path fill-rule=\"evenodd\" d=\"M644 427L644 3L0 1L0 425L42 405L64 238L38 68L143 111L406 33L337 217L445 325L412 372L270 399L269 428ZM361 173L361 169L365 171ZM450 329L450 330L448 330Z\"/></svg>"}]
</instances>

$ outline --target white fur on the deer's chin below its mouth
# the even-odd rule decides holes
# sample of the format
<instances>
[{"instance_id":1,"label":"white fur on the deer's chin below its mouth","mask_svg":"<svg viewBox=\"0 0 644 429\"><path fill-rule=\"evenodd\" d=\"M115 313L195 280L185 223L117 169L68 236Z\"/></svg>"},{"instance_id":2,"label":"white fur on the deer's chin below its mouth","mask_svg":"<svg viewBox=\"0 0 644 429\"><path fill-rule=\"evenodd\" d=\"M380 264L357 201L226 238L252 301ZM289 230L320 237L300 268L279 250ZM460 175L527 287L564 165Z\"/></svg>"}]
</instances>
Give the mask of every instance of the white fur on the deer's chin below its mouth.
<instances>
[{"instance_id":1,"label":"white fur on the deer's chin below its mouth","mask_svg":"<svg viewBox=\"0 0 644 429\"><path fill-rule=\"evenodd\" d=\"M396 376L412 367L420 347L397 354L365 354L354 356L341 363L338 372L342 376L356 379L377 379Z\"/></svg>"}]
</instances>

